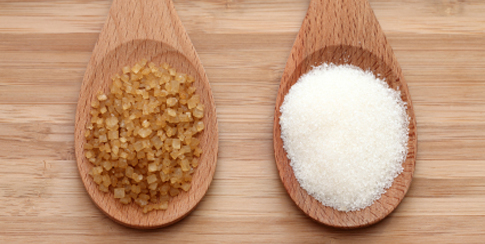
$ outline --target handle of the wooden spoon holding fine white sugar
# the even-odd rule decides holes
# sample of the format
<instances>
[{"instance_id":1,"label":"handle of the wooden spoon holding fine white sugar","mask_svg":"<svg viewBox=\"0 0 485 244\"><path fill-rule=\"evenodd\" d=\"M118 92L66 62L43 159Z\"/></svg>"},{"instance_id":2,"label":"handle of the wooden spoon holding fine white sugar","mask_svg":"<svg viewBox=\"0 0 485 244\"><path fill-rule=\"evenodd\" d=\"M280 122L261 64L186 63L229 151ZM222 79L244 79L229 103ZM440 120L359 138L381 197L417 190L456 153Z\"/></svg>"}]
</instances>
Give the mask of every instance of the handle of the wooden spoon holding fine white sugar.
<instances>
[{"instance_id":1,"label":"handle of the wooden spoon holding fine white sugar","mask_svg":"<svg viewBox=\"0 0 485 244\"><path fill-rule=\"evenodd\" d=\"M292 74L309 55L335 46L367 50L402 77L394 52L367 0L312 0L284 74Z\"/></svg>"}]
</instances>

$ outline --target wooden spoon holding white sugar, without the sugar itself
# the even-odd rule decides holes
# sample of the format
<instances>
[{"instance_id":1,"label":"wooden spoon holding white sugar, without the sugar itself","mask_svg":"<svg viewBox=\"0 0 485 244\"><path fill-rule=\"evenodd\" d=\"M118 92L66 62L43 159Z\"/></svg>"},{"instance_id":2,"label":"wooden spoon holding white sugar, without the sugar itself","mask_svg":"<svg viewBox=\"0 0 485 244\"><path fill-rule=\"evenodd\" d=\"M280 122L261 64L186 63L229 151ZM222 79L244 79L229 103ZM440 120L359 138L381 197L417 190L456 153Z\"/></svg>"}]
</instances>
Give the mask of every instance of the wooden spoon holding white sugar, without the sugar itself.
<instances>
[{"instance_id":1,"label":"wooden spoon holding white sugar, without the sugar itself","mask_svg":"<svg viewBox=\"0 0 485 244\"><path fill-rule=\"evenodd\" d=\"M295 178L283 149L280 106L298 78L322 63L352 64L385 77L389 86L401 91L410 117L404 172L373 205L354 212L323 206L303 190ZM391 46L367 0L312 0L291 50L276 98L274 150L278 171L291 199L308 216L338 228L364 227L385 218L404 198L414 172L417 150L416 120L411 96Z\"/></svg>"}]
</instances>

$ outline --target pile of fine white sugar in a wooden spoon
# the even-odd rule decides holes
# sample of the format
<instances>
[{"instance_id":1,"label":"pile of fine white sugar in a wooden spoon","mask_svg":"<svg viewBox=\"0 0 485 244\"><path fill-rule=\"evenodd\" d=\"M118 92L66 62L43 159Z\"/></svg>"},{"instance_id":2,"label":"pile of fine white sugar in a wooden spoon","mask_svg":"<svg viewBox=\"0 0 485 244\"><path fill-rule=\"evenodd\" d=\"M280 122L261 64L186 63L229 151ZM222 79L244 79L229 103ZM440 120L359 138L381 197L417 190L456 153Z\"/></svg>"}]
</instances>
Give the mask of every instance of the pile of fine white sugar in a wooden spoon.
<instances>
[{"instance_id":1,"label":"pile of fine white sugar in a wooden spoon","mask_svg":"<svg viewBox=\"0 0 485 244\"><path fill-rule=\"evenodd\" d=\"M368 207L403 171L406 103L370 71L315 67L291 87L281 113L281 137L295 176L325 206Z\"/></svg>"}]
</instances>

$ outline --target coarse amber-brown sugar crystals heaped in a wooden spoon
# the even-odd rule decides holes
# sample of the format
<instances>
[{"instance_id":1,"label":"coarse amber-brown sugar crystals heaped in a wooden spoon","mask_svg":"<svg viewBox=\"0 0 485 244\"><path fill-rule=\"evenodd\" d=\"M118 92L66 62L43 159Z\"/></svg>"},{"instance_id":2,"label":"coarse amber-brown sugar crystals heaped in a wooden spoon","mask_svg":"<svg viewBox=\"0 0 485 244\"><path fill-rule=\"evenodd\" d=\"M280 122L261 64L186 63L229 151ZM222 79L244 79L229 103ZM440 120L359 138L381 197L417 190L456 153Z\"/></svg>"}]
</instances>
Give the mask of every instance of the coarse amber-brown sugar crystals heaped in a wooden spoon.
<instances>
[{"instance_id":1,"label":"coarse amber-brown sugar crystals heaped in a wooden spoon","mask_svg":"<svg viewBox=\"0 0 485 244\"><path fill-rule=\"evenodd\" d=\"M202 154L204 105L194 77L143 59L113 76L91 103L85 156L99 190L144 213L165 210L191 187Z\"/></svg>"}]
</instances>

